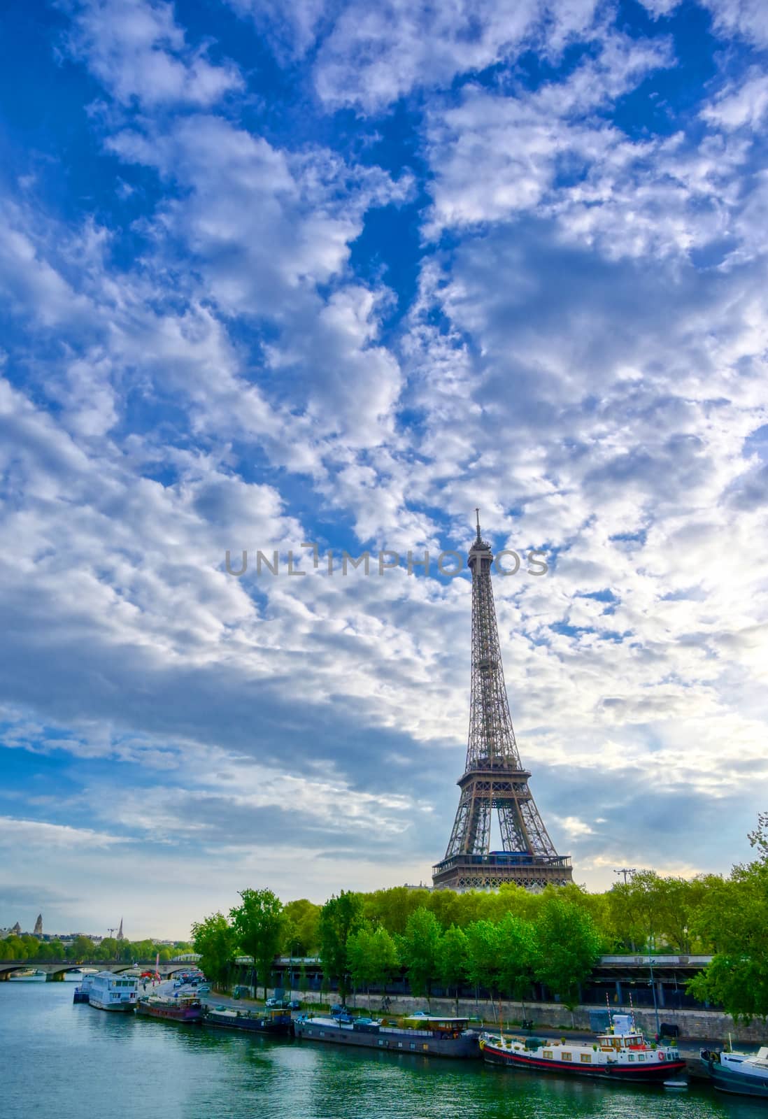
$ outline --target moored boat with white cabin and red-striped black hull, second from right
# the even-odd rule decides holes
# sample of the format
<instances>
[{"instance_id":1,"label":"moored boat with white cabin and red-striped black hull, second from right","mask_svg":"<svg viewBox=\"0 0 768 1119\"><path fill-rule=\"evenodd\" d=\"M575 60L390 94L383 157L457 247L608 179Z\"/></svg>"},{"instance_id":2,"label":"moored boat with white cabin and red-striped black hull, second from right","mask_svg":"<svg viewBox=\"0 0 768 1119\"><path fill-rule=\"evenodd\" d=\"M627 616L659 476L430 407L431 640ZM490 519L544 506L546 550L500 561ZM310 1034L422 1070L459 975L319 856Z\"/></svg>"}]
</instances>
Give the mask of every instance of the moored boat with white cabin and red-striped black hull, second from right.
<instances>
[{"instance_id":1,"label":"moored boat with white cabin and red-striped black hull, second from right","mask_svg":"<svg viewBox=\"0 0 768 1119\"><path fill-rule=\"evenodd\" d=\"M489 1064L601 1080L661 1084L685 1069L676 1046L649 1044L629 1014L615 1014L612 1027L593 1042L486 1033L480 1037L480 1049Z\"/></svg>"}]
</instances>

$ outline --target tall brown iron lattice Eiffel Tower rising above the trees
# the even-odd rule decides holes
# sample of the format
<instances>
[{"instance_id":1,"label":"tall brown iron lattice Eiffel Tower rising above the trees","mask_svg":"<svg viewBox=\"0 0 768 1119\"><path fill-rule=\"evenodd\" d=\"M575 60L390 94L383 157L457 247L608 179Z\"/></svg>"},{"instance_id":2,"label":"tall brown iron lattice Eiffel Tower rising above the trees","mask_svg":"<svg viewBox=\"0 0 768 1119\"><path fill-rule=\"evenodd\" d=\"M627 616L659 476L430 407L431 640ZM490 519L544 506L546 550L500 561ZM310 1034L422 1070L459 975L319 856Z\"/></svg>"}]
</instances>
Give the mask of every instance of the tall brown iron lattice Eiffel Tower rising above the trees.
<instances>
[{"instance_id":1,"label":"tall brown iron lattice Eiffel Tower rising above the trees","mask_svg":"<svg viewBox=\"0 0 768 1119\"><path fill-rule=\"evenodd\" d=\"M435 888L496 890L514 882L527 890L572 881L570 855L558 855L517 753L490 584L494 554L480 536L469 551L472 573L472 683L467 764L446 857L432 868ZM498 812L503 850L490 850L490 817Z\"/></svg>"}]
</instances>

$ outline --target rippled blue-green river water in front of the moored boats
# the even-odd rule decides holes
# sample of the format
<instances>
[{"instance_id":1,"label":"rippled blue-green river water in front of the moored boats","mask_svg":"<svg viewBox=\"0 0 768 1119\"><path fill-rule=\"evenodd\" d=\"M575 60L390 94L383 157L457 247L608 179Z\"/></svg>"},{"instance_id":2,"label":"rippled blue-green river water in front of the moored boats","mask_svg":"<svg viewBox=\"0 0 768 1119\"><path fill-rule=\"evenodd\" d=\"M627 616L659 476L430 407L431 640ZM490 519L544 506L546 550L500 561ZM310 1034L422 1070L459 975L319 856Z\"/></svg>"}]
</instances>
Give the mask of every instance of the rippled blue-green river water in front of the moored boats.
<instances>
[{"instance_id":1,"label":"rippled blue-green river water in front of the moored boats","mask_svg":"<svg viewBox=\"0 0 768 1119\"><path fill-rule=\"evenodd\" d=\"M706 1088L597 1084L246 1037L74 1005L73 985L0 982L0 1119L758 1119Z\"/></svg>"}]
</instances>

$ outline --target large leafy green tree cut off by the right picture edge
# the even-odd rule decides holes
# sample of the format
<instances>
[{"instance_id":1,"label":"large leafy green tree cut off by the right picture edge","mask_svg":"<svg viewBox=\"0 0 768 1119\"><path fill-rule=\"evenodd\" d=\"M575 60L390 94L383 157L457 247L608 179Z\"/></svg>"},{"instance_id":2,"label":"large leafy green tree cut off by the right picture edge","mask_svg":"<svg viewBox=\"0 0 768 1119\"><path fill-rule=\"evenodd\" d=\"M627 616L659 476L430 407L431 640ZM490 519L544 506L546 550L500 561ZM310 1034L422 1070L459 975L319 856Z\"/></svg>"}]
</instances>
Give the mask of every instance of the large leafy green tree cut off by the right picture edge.
<instances>
[{"instance_id":1,"label":"large leafy green tree cut off by the right picture edge","mask_svg":"<svg viewBox=\"0 0 768 1119\"><path fill-rule=\"evenodd\" d=\"M746 1023L768 1018L768 815L760 815L749 839L760 857L709 884L696 922L715 953L687 985L699 1002L719 1004Z\"/></svg>"}]
</instances>

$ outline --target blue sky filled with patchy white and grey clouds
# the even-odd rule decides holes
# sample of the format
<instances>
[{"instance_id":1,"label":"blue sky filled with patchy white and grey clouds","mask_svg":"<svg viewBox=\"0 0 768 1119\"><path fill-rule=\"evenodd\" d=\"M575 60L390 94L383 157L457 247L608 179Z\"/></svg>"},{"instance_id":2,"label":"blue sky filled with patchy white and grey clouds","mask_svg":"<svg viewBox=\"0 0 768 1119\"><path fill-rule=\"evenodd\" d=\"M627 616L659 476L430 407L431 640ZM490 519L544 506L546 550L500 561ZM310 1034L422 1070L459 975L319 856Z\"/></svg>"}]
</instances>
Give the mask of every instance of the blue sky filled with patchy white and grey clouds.
<instances>
[{"instance_id":1,"label":"blue sky filled with patchy white and grey clouds","mask_svg":"<svg viewBox=\"0 0 768 1119\"><path fill-rule=\"evenodd\" d=\"M434 561L476 506L523 556L507 688L577 881L744 858L762 0L3 20L0 925L184 937L246 885L428 881L469 699Z\"/></svg>"}]
</instances>

